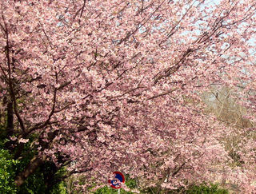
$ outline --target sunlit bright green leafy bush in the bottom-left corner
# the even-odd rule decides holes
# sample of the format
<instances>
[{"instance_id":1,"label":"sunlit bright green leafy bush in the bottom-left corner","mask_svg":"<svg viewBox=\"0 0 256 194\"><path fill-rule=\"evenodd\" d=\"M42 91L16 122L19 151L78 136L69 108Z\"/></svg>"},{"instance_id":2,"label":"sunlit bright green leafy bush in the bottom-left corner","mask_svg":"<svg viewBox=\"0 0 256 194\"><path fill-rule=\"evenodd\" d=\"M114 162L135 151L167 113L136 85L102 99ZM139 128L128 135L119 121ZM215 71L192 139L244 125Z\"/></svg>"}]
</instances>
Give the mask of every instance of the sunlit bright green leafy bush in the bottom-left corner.
<instances>
[{"instance_id":1,"label":"sunlit bright green leafy bush in the bottom-left corner","mask_svg":"<svg viewBox=\"0 0 256 194\"><path fill-rule=\"evenodd\" d=\"M7 150L0 149L0 193L15 193L17 188L14 184L15 171L18 160L11 159Z\"/></svg>"}]
</instances>

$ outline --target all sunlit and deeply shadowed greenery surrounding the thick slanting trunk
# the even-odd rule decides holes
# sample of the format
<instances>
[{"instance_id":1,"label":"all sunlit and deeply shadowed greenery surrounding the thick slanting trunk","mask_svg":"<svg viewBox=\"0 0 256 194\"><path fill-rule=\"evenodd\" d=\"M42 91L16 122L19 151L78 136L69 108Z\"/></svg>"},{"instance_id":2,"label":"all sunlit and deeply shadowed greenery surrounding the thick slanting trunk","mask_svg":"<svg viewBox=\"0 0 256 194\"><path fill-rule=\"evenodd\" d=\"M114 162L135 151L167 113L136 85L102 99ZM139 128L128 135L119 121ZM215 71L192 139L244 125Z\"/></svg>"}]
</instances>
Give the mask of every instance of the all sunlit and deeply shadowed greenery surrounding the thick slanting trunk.
<instances>
[{"instance_id":1,"label":"all sunlit and deeply shadowed greenery surrounding the thick slanting trunk","mask_svg":"<svg viewBox=\"0 0 256 194\"><path fill-rule=\"evenodd\" d=\"M24 144L24 148L22 148L21 157L19 157L18 160L14 160L14 152L17 152L18 147L14 148L14 152L12 152L12 154L6 150L5 144L10 140L6 139L6 130L3 126L0 126L0 131L0 193L47 193L45 184L46 175L52 172L54 174L54 178L60 179L66 170L61 168L57 173L54 173L53 164L45 162L42 167L38 168L34 174L30 175L26 179L25 183L22 184L21 187L17 188L14 184L14 178L19 172L22 172L22 170L26 168L26 165L29 164L34 155L37 154L36 148L31 146L32 141L37 137L30 137L30 141ZM64 181L56 181L56 184L54 184L50 193L66 194L66 185Z\"/></svg>"}]
</instances>

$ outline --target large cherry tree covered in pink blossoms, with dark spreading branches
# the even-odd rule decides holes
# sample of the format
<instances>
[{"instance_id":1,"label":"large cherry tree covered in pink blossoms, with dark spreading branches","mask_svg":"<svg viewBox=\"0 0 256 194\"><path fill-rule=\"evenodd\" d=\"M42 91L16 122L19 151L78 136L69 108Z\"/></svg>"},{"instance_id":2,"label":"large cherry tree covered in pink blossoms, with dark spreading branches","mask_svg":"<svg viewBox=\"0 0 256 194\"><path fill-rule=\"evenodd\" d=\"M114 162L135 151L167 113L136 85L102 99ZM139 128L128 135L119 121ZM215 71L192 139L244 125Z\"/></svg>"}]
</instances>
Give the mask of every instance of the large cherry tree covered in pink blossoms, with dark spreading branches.
<instances>
[{"instance_id":1,"label":"large cherry tree covered in pink blossoms, with dark spreading branches","mask_svg":"<svg viewBox=\"0 0 256 194\"><path fill-rule=\"evenodd\" d=\"M38 148L16 184L53 160L87 183L118 170L164 188L221 177L255 191L255 173L229 165L221 137L232 128L200 100L254 60L255 10L253 0L2 1L8 135L17 158L32 136Z\"/></svg>"}]
</instances>

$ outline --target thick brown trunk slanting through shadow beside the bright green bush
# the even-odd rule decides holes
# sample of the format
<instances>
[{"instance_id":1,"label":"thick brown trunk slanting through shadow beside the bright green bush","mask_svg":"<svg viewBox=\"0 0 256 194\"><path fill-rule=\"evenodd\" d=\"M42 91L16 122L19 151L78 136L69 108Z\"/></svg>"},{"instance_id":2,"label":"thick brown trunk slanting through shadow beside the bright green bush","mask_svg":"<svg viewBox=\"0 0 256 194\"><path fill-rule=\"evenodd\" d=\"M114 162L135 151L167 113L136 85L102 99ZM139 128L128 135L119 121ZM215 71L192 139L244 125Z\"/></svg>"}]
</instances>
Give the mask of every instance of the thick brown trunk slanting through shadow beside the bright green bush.
<instances>
[{"instance_id":1,"label":"thick brown trunk slanting through shadow beside the bright green bush","mask_svg":"<svg viewBox=\"0 0 256 194\"><path fill-rule=\"evenodd\" d=\"M34 156L32 160L30 160L30 164L28 164L26 168L16 176L14 181L15 184L17 184L18 187L21 186L25 182L26 178L33 174L44 160L45 157L39 158L38 156Z\"/></svg>"}]
</instances>

